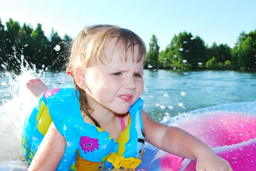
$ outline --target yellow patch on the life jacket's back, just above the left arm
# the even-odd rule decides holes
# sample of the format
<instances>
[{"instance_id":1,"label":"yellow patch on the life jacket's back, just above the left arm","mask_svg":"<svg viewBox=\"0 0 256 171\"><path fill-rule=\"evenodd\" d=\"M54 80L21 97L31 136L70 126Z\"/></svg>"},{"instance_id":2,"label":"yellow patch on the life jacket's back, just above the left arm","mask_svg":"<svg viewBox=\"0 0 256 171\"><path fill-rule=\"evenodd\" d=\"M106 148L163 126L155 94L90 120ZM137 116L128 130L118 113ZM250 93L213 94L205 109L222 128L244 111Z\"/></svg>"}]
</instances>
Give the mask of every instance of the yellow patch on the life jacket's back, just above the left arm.
<instances>
[{"instance_id":1,"label":"yellow patch on the life jacket's back, just above the left arm","mask_svg":"<svg viewBox=\"0 0 256 171\"><path fill-rule=\"evenodd\" d=\"M36 116L37 128L44 136L49 129L49 126L52 123L52 118L50 116L48 107L44 104L44 101L41 102L38 115Z\"/></svg>"}]
</instances>

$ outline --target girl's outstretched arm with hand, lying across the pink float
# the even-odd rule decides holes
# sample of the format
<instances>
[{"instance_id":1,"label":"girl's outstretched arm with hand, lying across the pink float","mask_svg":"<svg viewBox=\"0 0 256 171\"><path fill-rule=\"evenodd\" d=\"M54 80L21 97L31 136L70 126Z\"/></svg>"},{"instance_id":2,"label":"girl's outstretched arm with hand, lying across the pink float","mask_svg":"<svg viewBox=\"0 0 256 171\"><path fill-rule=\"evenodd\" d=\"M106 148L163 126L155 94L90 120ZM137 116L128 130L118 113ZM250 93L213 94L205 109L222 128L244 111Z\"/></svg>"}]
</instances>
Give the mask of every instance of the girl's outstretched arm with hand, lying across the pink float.
<instances>
[{"instance_id":1,"label":"girl's outstretched arm with hand, lying across the pink float","mask_svg":"<svg viewBox=\"0 0 256 171\"><path fill-rule=\"evenodd\" d=\"M197 161L197 171L233 171L230 164L218 157L204 142L186 131L151 119L141 111L145 140L168 153Z\"/></svg>"}]
</instances>

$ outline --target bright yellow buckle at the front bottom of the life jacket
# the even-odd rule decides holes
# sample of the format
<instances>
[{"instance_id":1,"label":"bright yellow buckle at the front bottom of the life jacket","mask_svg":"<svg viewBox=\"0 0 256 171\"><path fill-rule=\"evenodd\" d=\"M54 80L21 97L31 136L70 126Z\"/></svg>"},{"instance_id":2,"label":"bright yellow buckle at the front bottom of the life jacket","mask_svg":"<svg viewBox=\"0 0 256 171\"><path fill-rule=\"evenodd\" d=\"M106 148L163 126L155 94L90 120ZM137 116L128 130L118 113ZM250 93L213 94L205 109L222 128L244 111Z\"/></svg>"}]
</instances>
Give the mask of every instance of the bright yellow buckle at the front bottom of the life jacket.
<instances>
[{"instance_id":1,"label":"bright yellow buckle at the front bottom of the life jacket","mask_svg":"<svg viewBox=\"0 0 256 171\"><path fill-rule=\"evenodd\" d=\"M141 159L136 159L134 157L125 158L123 156L119 157L115 153L111 153L107 158L107 161L112 163L114 168L132 168L135 169L141 163Z\"/></svg>"}]
</instances>

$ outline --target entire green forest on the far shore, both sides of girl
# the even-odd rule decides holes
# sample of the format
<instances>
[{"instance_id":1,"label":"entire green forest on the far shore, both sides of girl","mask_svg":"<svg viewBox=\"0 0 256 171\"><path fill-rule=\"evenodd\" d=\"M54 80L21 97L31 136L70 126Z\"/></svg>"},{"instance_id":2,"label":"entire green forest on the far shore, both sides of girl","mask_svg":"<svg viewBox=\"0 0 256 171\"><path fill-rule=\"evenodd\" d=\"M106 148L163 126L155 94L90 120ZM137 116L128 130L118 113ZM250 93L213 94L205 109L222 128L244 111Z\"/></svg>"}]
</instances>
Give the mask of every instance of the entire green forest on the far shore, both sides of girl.
<instances>
[{"instance_id":1,"label":"entire green forest on the far shore, both sides of girl","mask_svg":"<svg viewBox=\"0 0 256 171\"><path fill-rule=\"evenodd\" d=\"M72 41L67 34L61 38L53 28L47 38L40 23L33 29L11 18L4 25L0 18L0 70L19 72L21 63L30 68L62 70ZM215 42L205 45L202 38L190 32L174 35L161 52L157 41L152 35L145 61L147 69L256 70L256 29L249 33L242 31L233 49Z\"/></svg>"}]
</instances>

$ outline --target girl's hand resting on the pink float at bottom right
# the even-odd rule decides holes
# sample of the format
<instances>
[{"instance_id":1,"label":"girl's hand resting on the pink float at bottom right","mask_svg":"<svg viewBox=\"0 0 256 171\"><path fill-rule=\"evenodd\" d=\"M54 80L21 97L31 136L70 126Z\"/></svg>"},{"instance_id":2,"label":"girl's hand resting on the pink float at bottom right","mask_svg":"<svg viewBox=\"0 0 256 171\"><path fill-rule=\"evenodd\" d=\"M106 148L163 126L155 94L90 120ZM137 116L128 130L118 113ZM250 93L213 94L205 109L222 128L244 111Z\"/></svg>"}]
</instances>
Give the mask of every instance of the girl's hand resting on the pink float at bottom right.
<instances>
[{"instance_id":1,"label":"girl's hand resting on the pink float at bottom right","mask_svg":"<svg viewBox=\"0 0 256 171\"><path fill-rule=\"evenodd\" d=\"M195 168L196 171L233 171L229 162L216 154L198 157Z\"/></svg>"}]
</instances>

